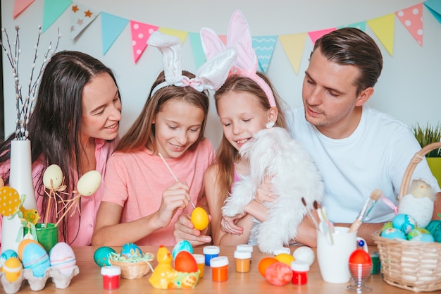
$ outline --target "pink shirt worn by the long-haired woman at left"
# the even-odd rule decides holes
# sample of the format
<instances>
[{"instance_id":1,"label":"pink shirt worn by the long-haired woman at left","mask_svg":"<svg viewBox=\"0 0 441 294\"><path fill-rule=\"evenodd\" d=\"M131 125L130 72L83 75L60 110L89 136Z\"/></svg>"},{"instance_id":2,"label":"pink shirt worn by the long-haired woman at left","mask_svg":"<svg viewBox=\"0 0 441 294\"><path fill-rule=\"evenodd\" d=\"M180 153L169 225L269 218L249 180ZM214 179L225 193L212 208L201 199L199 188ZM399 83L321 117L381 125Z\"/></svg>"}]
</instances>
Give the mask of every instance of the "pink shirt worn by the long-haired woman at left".
<instances>
[{"instance_id":1,"label":"pink shirt worn by the long-haired woman at left","mask_svg":"<svg viewBox=\"0 0 441 294\"><path fill-rule=\"evenodd\" d=\"M95 139L95 158L97 160L96 170L101 173L103 180L99 186L97 192L89 197L81 197L81 216L76 211L71 219L68 221L69 240L73 240L72 246L89 246L92 243L92 234L94 233L95 219L97 216L99 203L104 192L104 174L106 173L106 163L111 156L113 149L115 149L115 141L107 142L102 139ZM9 169L9 164L4 164L1 169ZM39 174L44 172L44 166L42 161L35 161L32 164L32 178L34 179L34 187L37 187L37 180ZM74 179L74 183L77 179ZM35 193L37 196L37 192ZM42 197L37 197L37 208L39 212L42 211ZM72 210L68 212L70 217ZM43 216L41 216L43 217ZM61 238L60 238L60 241ZM0 219L0 244L1 244L1 219Z\"/></svg>"}]
</instances>

